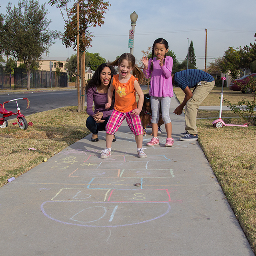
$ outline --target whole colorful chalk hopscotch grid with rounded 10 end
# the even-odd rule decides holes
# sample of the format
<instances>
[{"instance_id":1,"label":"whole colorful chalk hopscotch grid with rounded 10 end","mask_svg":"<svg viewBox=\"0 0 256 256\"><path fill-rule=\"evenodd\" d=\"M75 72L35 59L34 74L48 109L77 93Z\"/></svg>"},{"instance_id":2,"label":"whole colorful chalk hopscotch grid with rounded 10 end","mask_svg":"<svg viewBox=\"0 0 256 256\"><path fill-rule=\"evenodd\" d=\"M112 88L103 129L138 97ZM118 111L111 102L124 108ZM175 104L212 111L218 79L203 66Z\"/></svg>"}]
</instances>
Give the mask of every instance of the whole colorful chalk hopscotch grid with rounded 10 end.
<instances>
[{"instance_id":1,"label":"whole colorful chalk hopscotch grid with rounded 10 end","mask_svg":"<svg viewBox=\"0 0 256 256\"><path fill-rule=\"evenodd\" d=\"M104 164L102 168L102 162L97 163L97 155L91 156L87 154L83 167L74 168L68 175L73 179L90 178L87 186L61 188L51 200L41 205L46 217L82 227L121 227L157 220L170 212L172 191L145 186L152 180L158 185L158 180L174 178L171 159L158 156L161 168L155 168L157 160L153 156L150 160L137 161L140 168L131 169L129 162L136 161L134 157L116 153L113 164ZM71 154L60 160L62 164L77 162ZM116 163L119 168L113 168ZM132 186L138 182L140 186ZM142 214L138 214L140 212Z\"/></svg>"}]
</instances>

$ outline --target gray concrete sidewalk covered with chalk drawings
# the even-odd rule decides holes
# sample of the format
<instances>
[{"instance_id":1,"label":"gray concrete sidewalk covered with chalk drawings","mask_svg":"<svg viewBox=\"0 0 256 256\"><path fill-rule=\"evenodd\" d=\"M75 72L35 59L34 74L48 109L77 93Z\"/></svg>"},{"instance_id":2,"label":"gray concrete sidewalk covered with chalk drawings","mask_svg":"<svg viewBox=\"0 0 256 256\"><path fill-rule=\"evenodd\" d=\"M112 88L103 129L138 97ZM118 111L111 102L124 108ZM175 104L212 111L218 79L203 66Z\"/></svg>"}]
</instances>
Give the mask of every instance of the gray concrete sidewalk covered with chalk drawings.
<instances>
[{"instance_id":1,"label":"gray concrete sidewalk covered with chalk drawings","mask_svg":"<svg viewBox=\"0 0 256 256\"><path fill-rule=\"evenodd\" d=\"M184 116L171 118L174 146L164 130L145 159L124 122L110 158L90 134L0 188L0 255L253 256L198 142L179 140Z\"/></svg>"}]
</instances>

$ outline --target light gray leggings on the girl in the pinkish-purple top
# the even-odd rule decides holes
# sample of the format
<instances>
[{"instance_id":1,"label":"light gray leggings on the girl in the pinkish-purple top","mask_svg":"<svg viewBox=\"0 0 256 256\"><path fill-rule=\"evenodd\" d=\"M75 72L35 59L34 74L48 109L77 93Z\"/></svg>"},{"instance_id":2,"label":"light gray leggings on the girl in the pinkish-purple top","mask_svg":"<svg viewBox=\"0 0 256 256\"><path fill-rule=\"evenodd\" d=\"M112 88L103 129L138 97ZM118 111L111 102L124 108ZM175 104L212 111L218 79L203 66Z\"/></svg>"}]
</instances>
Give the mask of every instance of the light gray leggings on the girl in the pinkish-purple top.
<instances>
[{"instance_id":1,"label":"light gray leggings on the girl in the pinkish-purple top","mask_svg":"<svg viewBox=\"0 0 256 256\"><path fill-rule=\"evenodd\" d=\"M152 120L153 124L158 124L159 120L159 110L160 110L160 103L162 105L162 118L165 124L171 122L171 118L169 116L170 104L171 104L171 97L150 97L151 102L151 109L152 109Z\"/></svg>"}]
</instances>

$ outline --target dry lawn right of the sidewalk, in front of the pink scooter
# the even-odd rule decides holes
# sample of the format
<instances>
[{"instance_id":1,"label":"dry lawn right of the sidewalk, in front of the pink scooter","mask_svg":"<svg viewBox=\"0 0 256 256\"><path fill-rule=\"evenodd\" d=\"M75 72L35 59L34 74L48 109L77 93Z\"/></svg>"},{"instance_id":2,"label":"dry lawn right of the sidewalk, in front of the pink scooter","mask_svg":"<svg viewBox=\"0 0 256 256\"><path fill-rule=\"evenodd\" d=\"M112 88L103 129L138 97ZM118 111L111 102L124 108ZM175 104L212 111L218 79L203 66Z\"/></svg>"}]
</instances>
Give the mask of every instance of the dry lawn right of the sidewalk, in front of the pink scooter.
<instances>
[{"instance_id":1,"label":"dry lawn right of the sidewalk, in front of the pink scooter","mask_svg":"<svg viewBox=\"0 0 256 256\"><path fill-rule=\"evenodd\" d=\"M197 120L197 126L200 146L256 252L256 127L214 128L210 120Z\"/></svg>"}]
</instances>

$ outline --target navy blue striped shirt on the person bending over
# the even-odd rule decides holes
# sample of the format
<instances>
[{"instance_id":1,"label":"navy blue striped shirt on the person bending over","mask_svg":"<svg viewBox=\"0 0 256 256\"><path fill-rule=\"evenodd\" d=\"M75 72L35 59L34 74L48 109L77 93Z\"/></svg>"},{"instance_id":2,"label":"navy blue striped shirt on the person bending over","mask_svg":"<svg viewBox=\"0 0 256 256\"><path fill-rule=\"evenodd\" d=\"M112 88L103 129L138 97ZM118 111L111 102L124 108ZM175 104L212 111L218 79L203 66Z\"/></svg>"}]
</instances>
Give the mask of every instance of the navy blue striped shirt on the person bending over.
<instances>
[{"instance_id":1,"label":"navy blue striped shirt on the person bending over","mask_svg":"<svg viewBox=\"0 0 256 256\"><path fill-rule=\"evenodd\" d=\"M212 82L214 78L199 69L187 69L174 74L174 84L179 86L183 91L188 86L188 88L194 88L196 85L201 82Z\"/></svg>"}]
</instances>

